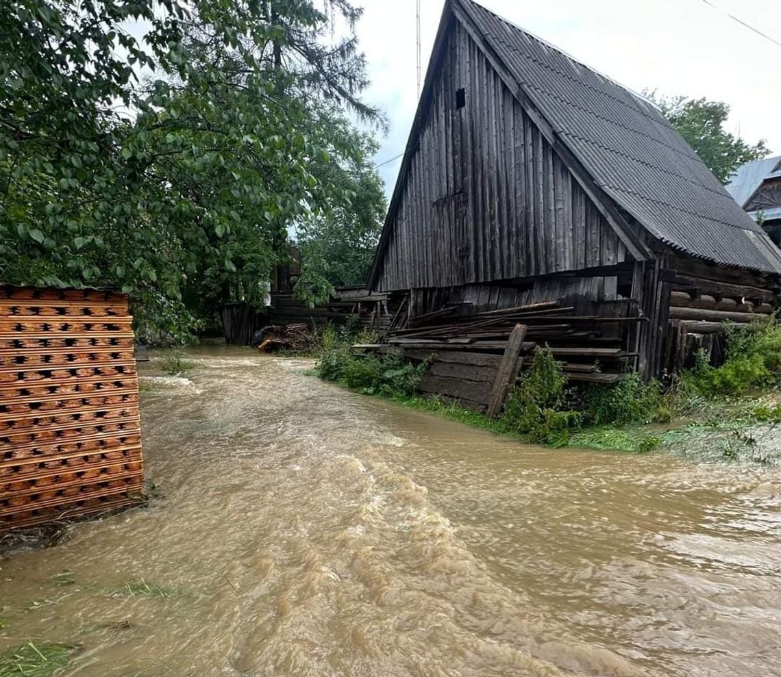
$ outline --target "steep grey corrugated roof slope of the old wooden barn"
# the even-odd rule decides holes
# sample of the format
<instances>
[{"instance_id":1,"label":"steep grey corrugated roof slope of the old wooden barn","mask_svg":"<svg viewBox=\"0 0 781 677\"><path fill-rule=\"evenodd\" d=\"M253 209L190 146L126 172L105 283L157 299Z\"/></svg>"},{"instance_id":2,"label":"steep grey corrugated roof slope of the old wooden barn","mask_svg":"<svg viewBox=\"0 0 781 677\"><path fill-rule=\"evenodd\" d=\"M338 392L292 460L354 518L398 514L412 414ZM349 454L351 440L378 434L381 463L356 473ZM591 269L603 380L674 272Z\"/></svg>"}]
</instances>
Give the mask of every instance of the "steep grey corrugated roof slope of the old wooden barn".
<instances>
[{"instance_id":1,"label":"steep grey corrugated roof slope of the old wooden barn","mask_svg":"<svg viewBox=\"0 0 781 677\"><path fill-rule=\"evenodd\" d=\"M653 236L718 264L781 272L781 251L657 108L472 0L458 5L602 190Z\"/></svg>"}]
</instances>

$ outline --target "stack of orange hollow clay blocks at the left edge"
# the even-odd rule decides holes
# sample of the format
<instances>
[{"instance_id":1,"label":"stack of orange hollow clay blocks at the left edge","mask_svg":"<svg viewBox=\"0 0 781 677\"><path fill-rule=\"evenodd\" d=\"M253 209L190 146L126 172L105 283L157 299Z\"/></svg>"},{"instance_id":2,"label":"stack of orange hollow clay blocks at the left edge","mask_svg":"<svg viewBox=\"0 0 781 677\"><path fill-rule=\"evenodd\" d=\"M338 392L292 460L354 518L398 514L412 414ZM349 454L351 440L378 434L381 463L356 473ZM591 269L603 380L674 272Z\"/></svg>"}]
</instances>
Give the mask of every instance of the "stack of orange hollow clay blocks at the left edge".
<instances>
[{"instance_id":1,"label":"stack of orange hollow clay blocks at the left edge","mask_svg":"<svg viewBox=\"0 0 781 677\"><path fill-rule=\"evenodd\" d=\"M0 533L141 500L127 296L0 287Z\"/></svg>"}]
</instances>

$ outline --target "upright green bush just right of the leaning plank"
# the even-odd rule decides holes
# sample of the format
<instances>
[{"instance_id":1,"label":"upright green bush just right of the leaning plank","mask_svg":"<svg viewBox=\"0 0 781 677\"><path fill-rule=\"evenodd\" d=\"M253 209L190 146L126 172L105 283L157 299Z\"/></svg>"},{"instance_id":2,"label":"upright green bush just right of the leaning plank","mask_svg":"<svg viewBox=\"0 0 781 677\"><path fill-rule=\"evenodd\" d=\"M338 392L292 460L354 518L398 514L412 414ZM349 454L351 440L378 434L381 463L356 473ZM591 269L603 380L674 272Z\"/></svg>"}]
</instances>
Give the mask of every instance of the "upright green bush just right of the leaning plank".
<instances>
[{"instance_id":1,"label":"upright green bush just right of the leaning plank","mask_svg":"<svg viewBox=\"0 0 781 677\"><path fill-rule=\"evenodd\" d=\"M534 353L521 384L512 389L502 420L508 429L532 442L565 445L569 431L580 424L580 413L565 406L566 377L550 350Z\"/></svg>"}]
</instances>

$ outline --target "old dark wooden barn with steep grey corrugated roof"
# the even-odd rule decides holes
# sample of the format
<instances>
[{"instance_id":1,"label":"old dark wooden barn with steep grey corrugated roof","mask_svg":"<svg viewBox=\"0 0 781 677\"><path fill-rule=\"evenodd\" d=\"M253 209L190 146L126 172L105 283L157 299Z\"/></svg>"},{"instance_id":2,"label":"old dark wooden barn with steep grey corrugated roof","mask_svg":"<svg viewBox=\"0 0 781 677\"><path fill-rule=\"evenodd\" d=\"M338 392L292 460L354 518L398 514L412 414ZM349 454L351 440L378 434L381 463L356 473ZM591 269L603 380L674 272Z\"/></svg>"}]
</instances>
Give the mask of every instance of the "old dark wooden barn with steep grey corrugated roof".
<instances>
[{"instance_id":1,"label":"old dark wooden barn with steep grey corrugated roof","mask_svg":"<svg viewBox=\"0 0 781 677\"><path fill-rule=\"evenodd\" d=\"M408 298L397 349L495 371L522 322L522 345L547 343L572 378L650 377L718 353L722 321L772 313L779 273L776 245L654 105L446 2L369 279Z\"/></svg>"}]
</instances>

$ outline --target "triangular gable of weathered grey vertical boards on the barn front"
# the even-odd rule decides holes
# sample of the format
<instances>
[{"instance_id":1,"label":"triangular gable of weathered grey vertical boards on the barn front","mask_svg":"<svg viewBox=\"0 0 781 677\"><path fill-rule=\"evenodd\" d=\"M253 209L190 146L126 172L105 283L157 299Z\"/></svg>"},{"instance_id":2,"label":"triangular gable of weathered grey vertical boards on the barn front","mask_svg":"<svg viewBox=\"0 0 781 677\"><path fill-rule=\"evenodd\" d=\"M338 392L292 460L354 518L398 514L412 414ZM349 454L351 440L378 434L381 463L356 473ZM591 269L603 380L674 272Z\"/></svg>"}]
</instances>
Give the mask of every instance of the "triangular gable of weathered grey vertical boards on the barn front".
<instances>
[{"instance_id":1,"label":"triangular gable of weathered grey vertical boards on the barn front","mask_svg":"<svg viewBox=\"0 0 781 677\"><path fill-rule=\"evenodd\" d=\"M378 291L612 265L626 249L456 23L399 199ZM465 89L457 108L456 91Z\"/></svg>"}]
</instances>

